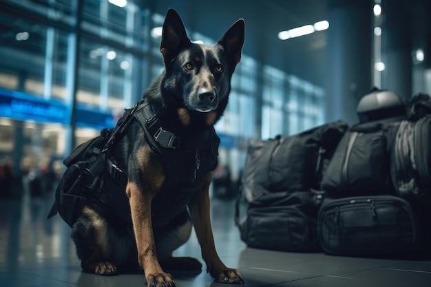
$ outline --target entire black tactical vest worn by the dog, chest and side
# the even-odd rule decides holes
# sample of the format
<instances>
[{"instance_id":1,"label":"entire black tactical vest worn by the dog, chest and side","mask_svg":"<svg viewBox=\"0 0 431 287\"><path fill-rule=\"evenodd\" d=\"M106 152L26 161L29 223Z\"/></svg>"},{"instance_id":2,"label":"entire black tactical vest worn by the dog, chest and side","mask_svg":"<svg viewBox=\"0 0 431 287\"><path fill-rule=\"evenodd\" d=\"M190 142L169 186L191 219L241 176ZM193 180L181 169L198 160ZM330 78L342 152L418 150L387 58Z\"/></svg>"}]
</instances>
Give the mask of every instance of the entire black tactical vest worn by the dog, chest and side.
<instances>
[{"instance_id":1,"label":"entire black tactical vest worn by the dog, chest and side","mask_svg":"<svg viewBox=\"0 0 431 287\"><path fill-rule=\"evenodd\" d=\"M213 127L191 138L178 137L163 129L151 105L142 102L127 109L115 129L104 129L101 136L83 143L65 159L67 170L56 189L56 201L48 217L58 212L73 226L81 215L78 206L87 200L98 200L118 217L132 222L125 193L127 174L109 151L116 139L127 133L133 120L143 128L147 142L165 168L165 182L151 203L153 224L167 224L185 211L200 181L217 166L220 138Z\"/></svg>"}]
</instances>

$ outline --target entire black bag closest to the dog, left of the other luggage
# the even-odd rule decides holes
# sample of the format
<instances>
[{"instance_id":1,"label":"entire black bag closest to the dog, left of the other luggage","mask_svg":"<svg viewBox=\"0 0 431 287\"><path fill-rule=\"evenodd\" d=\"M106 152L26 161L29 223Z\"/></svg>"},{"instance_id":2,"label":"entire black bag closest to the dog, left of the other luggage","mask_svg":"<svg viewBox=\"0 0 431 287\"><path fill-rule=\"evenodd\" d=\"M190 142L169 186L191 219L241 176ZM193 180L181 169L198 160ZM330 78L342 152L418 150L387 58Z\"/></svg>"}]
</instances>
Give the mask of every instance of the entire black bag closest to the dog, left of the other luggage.
<instances>
[{"instance_id":1,"label":"entire black bag closest to the dog, left of the other luggage","mask_svg":"<svg viewBox=\"0 0 431 287\"><path fill-rule=\"evenodd\" d=\"M236 202L235 222L248 246L317 251L319 181L348 125L330 123L286 138L249 145ZM240 218L242 192L248 202Z\"/></svg>"}]
</instances>

